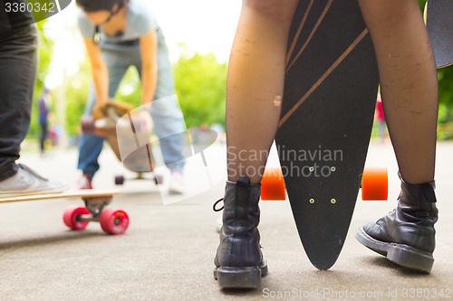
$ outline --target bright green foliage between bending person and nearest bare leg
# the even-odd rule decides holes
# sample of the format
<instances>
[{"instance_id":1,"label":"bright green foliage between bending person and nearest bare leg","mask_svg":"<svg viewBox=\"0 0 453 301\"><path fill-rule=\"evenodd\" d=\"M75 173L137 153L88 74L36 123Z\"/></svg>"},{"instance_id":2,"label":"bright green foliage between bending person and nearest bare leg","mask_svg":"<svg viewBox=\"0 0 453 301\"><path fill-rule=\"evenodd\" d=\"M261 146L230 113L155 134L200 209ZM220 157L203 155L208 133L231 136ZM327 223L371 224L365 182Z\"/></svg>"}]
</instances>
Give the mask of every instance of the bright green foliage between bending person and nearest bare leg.
<instances>
[{"instance_id":1,"label":"bright green foliage between bending person and nearest bare leg","mask_svg":"<svg viewBox=\"0 0 453 301\"><path fill-rule=\"evenodd\" d=\"M226 63L213 53L180 57L174 66L175 85L187 127L225 125Z\"/></svg>"}]
</instances>

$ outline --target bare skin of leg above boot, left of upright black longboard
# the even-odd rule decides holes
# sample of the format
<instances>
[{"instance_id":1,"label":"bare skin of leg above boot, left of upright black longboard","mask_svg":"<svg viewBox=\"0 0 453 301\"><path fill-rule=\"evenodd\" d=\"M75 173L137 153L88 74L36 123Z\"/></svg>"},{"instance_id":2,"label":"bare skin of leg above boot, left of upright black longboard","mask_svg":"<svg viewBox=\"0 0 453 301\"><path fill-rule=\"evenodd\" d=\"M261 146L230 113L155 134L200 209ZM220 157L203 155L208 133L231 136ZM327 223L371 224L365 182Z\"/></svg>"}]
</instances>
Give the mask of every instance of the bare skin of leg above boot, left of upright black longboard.
<instances>
[{"instance_id":1,"label":"bare skin of leg above boot, left of upright black longboard","mask_svg":"<svg viewBox=\"0 0 453 301\"><path fill-rule=\"evenodd\" d=\"M244 0L226 80L228 179L259 183L275 137L299 0Z\"/></svg>"}]
</instances>

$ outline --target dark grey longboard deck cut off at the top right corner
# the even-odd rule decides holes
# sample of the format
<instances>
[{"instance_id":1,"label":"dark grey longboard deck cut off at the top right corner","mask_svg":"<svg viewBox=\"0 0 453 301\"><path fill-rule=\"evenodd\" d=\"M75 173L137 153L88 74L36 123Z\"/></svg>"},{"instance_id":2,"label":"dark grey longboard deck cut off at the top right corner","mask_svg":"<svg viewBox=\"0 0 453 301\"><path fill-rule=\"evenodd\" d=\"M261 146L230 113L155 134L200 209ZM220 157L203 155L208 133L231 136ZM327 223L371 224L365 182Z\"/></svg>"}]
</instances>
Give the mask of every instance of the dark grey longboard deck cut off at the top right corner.
<instances>
[{"instance_id":1,"label":"dark grey longboard deck cut off at the top right corner","mask_svg":"<svg viewBox=\"0 0 453 301\"><path fill-rule=\"evenodd\" d=\"M429 0L425 20L436 66L442 68L453 64L453 1Z\"/></svg>"}]
</instances>

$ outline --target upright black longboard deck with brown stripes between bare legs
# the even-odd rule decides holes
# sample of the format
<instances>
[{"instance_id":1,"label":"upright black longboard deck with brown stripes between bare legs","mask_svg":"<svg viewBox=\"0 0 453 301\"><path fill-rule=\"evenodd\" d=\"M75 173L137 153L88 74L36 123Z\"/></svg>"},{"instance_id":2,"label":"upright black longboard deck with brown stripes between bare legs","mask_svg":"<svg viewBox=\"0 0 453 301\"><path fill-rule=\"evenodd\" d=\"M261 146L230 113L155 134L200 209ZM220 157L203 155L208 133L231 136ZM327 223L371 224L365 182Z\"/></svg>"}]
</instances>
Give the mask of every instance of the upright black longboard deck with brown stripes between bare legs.
<instances>
[{"instance_id":1,"label":"upright black longboard deck with brown stripes between bare legs","mask_svg":"<svg viewBox=\"0 0 453 301\"><path fill-rule=\"evenodd\" d=\"M276 144L304 249L328 269L359 192L378 70L357 1L301 1L289 41Z\"/></svg>"}]
</instances>

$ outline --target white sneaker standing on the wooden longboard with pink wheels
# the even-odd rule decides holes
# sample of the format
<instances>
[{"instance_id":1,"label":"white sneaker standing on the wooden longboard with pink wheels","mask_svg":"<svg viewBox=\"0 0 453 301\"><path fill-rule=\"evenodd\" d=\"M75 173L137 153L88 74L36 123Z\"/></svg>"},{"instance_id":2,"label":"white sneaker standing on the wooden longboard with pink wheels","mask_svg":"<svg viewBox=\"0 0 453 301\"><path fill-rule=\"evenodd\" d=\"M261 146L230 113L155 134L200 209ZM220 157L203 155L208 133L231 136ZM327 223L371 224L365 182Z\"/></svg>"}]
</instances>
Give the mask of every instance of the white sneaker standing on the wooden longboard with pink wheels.
<instances>
[{"instance_id":1,"label":"white sneaker standing on the wooden longboard with pink wheels","mask_svg":"<svg viewBox=\"0 0 453 301\"><path fill-rule=\"evenodd\" d=\"M19 170L16 174L0 182L0 198L43 193L61 193L69 188L67 183L46 179L26 165L18 164L18 166Z\"/></svg>"}]
</instances>

